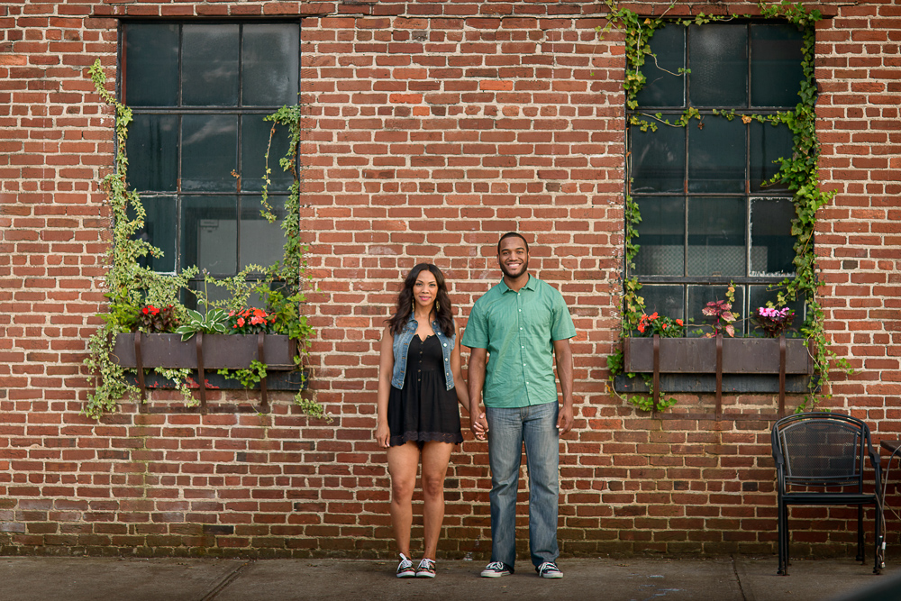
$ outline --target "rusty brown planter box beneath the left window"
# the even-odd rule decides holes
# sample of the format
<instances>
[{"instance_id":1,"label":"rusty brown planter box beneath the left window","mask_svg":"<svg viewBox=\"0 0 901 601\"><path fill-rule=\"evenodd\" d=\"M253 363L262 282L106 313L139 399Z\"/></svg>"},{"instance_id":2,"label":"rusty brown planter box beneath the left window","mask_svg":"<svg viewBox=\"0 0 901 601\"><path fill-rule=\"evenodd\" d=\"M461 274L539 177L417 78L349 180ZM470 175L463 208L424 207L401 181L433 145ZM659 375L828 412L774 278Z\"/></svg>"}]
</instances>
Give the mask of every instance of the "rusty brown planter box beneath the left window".
<instances>
[{"instance_id":1,"label":"rusty brown planter box beneath the left window","mask_svg":"<svg viewBox=\"0 0 901 601\"><path fill-rule=\"evenodd\" d=\"M187 341L180 334L116 334L113 360L123 368L137 371L141 399L146 397L144 369L196 369L201 406L206 405L206 380L217 369L247 369L259 360L267 372L293 371L297 342L282 334L204 334ZM206 370L212 370L207 374ZM268 405L268 379L259 382L261 404ZM278 378L278 381L286 378ZM290 378L288 378L290 379ZM291 389L294 389L292 386Z\"/></svg>"}]
</instances>

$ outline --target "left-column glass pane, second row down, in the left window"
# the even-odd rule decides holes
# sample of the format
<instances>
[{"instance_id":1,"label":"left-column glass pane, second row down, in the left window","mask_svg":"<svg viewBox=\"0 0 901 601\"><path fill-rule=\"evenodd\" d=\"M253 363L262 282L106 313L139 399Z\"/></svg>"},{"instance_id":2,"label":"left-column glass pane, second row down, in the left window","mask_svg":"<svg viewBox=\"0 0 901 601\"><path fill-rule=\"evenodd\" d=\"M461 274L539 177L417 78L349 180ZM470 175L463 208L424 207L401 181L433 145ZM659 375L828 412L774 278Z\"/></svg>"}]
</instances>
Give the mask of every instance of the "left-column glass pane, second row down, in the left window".
<instances>
[{"instance_id":1,"label":"left-column glass pane, second row down, in the left window","mask_svg":"<svg viewBox=\"0 0 901 601\"><path fill-rule=\"evenodd\" d=\"M178 178L178 117L136 114L125 141L128 179L139 191L175 192Z\"/></svg>"}]
</instances>

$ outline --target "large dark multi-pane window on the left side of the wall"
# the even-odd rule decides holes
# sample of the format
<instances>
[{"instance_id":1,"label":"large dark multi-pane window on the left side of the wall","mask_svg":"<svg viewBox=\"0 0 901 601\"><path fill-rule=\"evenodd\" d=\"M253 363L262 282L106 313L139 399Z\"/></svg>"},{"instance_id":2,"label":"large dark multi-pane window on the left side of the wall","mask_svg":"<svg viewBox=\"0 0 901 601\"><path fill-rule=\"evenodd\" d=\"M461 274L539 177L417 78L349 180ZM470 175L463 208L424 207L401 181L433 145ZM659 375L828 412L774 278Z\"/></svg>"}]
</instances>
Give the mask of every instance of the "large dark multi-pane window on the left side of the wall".
<instances>
[{"instance_id":1,"label":"large dark multi-pane window on the left side of the wall","mask_svg":"<svg viewBox=\"0 0 901 601\"><path fill-rule=\"evenodd\" d=\"M271 129L263 117L298 101L299 34L298 23L123 24L129 179L147 211L141 236L165 253L151 269L196 265L227 277L282 258L280 224L259 213ZM269 155L279 216L291 184L278 167L287 144L280 128Z\"/></svg>"}]
</instances>

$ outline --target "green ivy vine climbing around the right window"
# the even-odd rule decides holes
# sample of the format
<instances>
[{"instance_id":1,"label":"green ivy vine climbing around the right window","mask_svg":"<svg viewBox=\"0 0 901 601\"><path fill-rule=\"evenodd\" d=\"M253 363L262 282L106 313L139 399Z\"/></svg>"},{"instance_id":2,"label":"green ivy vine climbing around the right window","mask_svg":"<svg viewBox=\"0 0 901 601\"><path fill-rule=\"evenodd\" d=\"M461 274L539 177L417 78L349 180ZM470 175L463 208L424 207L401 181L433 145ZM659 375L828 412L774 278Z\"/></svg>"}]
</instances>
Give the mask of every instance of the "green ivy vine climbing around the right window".
<instances>
[{"instance_id":1,"label":"green ivy vine climbing around the right window","mask_svg":"<svg viewBox=\"0 0 901 601\"><path fill-rule=\"evenodd\" d=\"M645 16L634 13L628 8L615 5L614 0L605 0L609 9L608 21L604 28L598 28L597 32L603 36L605 32L616 28L622 30L625 35L626 68L623 77L623 90L626 95L626 106L632 114L629 114L628 123L637 126L642 132L656 131L658 126L685 127L692 119L701 119L701 114L696 108L689 106L675 122L669 122L662 114L638 113L638 93L647 79L642 73L642 68L648 59L656 62L656 57L651 52L650 41L656 30L666 24L678 23L705 24L711 22L729 21L736 16L719 16L698 14L692 18L667 19L666 14L676 3L660 16ZM778 159L779 170L775 177L769 180L769 184L780 183L787 185L793 192L793 203L796 216L792 221L791 233L795 237L794 265L796 274L793 278L786 278L780 284L783 290L778 293L778 304L785 305L795 299L803 299L807 306L805 323L800 332L805 336L808 352L814 360L815 378L811 378L809 389L804 401L796 407L797 412L813 409L821 400L831 397L828 392L830 369L842 369L850 372L847 360L839 358L832 349L831 341L826 337L824 327L824 310L819 298L819 287L822 283L820 269L817 265L814 251L814 234L817 211L827 205L833 198L834 192L824 192L819 186L819 171L817 164L820 158L820 144L816 137L816 82L814 77L815 67L815 28L814 24L822 19L822 14L817 10L807 10L799 3L782 0L779 3L767 4L759 2L760 14L767 19L783 19L788 23L794 23L803 32L802 44L802 68L803 79L800 85L799 102L795 110L779 112L775 115L762 116L757 114L736 114L735 111L714 111L714 114L727 119L740 117L743 123L757 120L761 123L787 125L793 135L792 156ZM742 15L751 18L751 15ZM684 75L688 69L679 69L678 74ZM638 238L637 225L641 223L642 216L637 203L633 198L625 196L625 264L627 268L634 267L634 258L640 250L636 242ZM641 318L644 307L644 299L640 296L642 285L637 278L623 278L623 313L621 318L621 336L625 337L635 330ZM623 373L623 351L614 351L607 361L611 374L611 391L614 391L613 379ZM658 407L675 403L674 399L650 399L646 396L620 396L623 400L639 406L642 409L651 409L654 401Z\"/></svg>"}]
</instances>

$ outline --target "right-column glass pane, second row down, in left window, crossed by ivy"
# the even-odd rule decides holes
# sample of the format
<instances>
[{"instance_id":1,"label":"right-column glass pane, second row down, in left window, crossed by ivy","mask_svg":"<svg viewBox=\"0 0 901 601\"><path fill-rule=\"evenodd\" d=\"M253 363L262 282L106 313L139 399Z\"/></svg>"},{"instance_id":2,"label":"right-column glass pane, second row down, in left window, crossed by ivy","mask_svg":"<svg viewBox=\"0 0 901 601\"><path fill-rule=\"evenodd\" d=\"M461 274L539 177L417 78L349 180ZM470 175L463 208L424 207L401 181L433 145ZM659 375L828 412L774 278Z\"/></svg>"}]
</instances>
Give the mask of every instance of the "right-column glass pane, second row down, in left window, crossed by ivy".
<instances>
[{"instance_id":1,"label":"right-column glass pane, second row down, in left window, crossed by ivy","mask_svg":"<svg viewBox=\"0 0 901 601\"><path fill-rule=\"evenodd\" d=\"M259 192L263 189L266 172L266 149L269 149L269 193L287 192L294 178L282 170L278 160L285 156L289 137L287 127L278 125L272 144L269 132L272 123L263 121L261 114L245 114L241 117L241 189Z\"/></svg>"}]
</instances>

